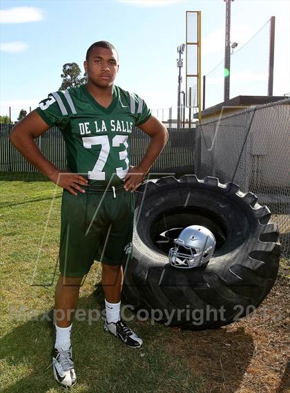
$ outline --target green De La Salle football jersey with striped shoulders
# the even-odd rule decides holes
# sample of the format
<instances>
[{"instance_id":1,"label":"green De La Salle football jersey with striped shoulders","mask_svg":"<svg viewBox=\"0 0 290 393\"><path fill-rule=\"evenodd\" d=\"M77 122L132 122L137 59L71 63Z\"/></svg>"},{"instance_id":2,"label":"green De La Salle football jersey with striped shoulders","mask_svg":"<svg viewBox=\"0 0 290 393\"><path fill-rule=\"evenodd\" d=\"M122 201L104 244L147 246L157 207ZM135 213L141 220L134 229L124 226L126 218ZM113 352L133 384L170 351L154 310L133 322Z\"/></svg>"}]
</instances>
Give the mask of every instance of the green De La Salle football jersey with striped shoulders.
<instances>
[{"instance_id":1,"label":"green De La Salle football jersey with striped shoulders","mask_svg":"<svg viewBox=\"0 0 290 393\"><path fill-rule=\"evenodd\" d=\"M81 85L50 93L39 103L37 113L61 130L69 171L88 176L93 184L112 185L124 183L128 172L133 127L151 117L138 95L118 86L108 108Z\"/></svg>"}]
</instances>

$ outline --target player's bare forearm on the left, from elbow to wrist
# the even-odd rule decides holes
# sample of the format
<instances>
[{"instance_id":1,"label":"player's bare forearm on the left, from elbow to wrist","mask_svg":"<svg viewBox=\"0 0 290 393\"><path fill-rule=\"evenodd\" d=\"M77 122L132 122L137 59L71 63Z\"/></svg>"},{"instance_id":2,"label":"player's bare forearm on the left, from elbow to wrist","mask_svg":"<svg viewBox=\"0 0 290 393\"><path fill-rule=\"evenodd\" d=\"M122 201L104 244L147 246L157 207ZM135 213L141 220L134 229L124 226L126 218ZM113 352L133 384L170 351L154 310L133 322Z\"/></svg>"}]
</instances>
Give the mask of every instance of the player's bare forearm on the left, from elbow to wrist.
<instances>
[{"instance_id":1,"label":"player's bare forearm on the left, from elbow to wrist","mask_svg":"<svg viewBox=\"0 0 290 393\"><path fill-rule=\"evenodd\" d=\"M30 164L35 166L41 173L48 176L52 180L57 171L57 167L52 164L39 150L32 135L21 135L19 133L11 133L10 142L23 155Z\"/></svg>"}]
</instances>

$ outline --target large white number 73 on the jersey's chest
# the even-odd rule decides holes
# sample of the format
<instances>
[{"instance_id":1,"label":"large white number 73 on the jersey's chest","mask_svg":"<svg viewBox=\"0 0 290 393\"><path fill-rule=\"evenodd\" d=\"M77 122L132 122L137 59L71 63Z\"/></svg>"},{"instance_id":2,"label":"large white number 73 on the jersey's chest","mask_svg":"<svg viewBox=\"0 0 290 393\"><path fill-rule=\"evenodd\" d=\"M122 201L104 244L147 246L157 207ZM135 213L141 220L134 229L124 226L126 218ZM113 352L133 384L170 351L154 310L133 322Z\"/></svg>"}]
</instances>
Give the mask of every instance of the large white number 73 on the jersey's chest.
<instances>
[{"instance_id":1,"label":"large white number 73 on the jersey's chest","mask_svg":"<svg viewBox=\"0 0 290 393\"><path fill-rule=\"evenodd\" d=\"M113 137L113 147L118 147L120 144L124 144L125 150L119 152L119 159L124 160L126 163L126 168L122 169L122 166L116 168L117 176L120 179L124 179L126 173L129 169L128 160L128 135L115 135ZM88 178L92 180L105 180L105 172L103 172L104 166L106 164L108 155L110 153L110 144L107 135L97 135L96 137L83 137L82 138L84 147L91 148L94 144L101 144L101 151L99 153L99 158L93 168L93 171L88 171Z\"/></svg>"}]
</instances>

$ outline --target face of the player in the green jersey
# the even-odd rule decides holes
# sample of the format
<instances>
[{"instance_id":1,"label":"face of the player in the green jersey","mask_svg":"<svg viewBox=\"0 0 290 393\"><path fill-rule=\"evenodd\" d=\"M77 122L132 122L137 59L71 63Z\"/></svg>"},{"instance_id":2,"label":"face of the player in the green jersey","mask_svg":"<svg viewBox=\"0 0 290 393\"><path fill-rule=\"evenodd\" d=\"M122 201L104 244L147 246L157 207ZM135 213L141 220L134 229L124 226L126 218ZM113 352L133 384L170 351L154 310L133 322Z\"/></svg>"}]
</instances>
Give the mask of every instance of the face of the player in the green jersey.
<instances>
[{"instance_id":1,"label":"face of the player in the green jersey","mask_svg":"<svg viewBox=\"0 0 290 393\"><path fill-rule=\"evenodd\" d=\"M88 82L101 88L113 85L119 70L118 55L115 50L93 48L88 61L84 61Z\"/></svg>"}]
</instances>

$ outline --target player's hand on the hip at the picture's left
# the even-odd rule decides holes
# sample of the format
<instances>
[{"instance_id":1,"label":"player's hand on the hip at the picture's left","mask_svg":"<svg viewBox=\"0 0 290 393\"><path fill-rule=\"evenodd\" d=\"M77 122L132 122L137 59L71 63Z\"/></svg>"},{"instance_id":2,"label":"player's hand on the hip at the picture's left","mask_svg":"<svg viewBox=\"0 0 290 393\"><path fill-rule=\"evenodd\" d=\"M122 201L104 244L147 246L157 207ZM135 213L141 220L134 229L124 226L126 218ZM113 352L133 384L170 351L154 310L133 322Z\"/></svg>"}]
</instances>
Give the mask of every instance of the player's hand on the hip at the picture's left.
<instances>
[{"instance_id":1,"label":"player's hand on the hip at the picture's left","mask_svg":"<svg viewBox=\"0 0 290 393\"><path fill-rule=\"evenodd\" d=\"M81 186L88 185L88 180L86 180L84 176L81 176L78 173L62 171L61 169L55 171L55 173L51 176L51 180L63 189L68 190L72 195L77 195L76 191L81 193L86 192L81 188Z\"/></svg>"}]
</instances>

